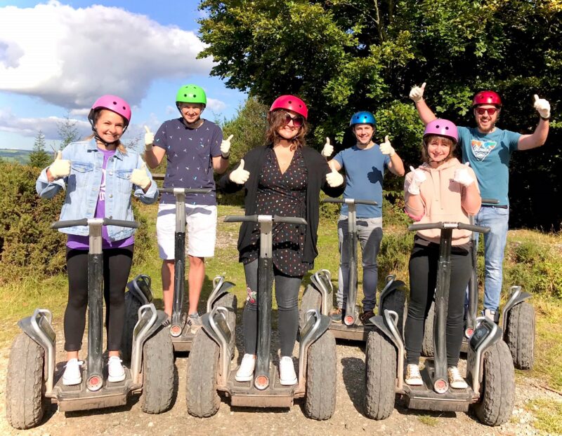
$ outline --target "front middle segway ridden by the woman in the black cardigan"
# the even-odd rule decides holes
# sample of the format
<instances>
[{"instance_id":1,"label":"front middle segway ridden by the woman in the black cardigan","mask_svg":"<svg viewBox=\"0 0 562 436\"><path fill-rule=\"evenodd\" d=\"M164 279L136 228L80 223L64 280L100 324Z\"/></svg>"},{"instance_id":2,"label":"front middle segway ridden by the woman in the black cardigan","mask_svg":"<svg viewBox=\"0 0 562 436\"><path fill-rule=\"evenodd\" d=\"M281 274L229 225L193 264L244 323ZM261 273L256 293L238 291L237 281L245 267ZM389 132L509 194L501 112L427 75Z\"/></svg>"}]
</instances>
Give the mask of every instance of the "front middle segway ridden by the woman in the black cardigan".
<instances>
[{"instance_id":1,"label":"front middle segway ridden by the woman in the black cardigan","mask_svg":"<svg viewBox=\"0 0 562 436\"><path fill-rule=\"evenodd\" d=\"M253 381L235 381L236 365L230 365L235 347L231 313L215 306L202 316L190 353L187 383L188 412L197 417L216 414L221 404L218 393L230 397L232 406L291 407L296 398L305 398L305 414L324 420L336 407L336 341L328 331L329 317L318 309L308 311L299 343L299 379L282 386L277 369L270 365L271 304L273 287L273 224L306 225L298 217L271 215L228 216L225 222L257 222L260 227L258 266L258 338Z\"/></svg>"}]
</instances>

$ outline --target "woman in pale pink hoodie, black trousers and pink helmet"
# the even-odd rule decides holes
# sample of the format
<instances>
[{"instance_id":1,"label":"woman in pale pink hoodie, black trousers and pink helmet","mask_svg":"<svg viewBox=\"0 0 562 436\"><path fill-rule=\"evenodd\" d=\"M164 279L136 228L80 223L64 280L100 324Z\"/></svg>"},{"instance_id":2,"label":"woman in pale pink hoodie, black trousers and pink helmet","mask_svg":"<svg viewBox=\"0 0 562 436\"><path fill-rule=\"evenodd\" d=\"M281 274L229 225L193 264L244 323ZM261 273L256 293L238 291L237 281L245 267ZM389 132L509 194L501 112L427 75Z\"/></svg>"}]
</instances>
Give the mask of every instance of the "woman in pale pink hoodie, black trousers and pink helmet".
<instances>
[{"instance_id":1,"label":"woman in pale pink hoodie, black trousers and pink helmet","mask_svg":"<svg viewBox=\"0 0 562 436\"><path fill-rule=\"evenodd\" d=\"M406 213L419 223L463 222L480 210L476 175L455 158L458 132L451 121L436 119L426 125L421 149L424 163L410 167L404 184ZM471 232L452 231L451 279L447 311L447 367L452 388L466 388L457 369L462 345L464 294L471 274ZM424 322L433 301L439 257L440 231L417 231L410 255L410 303L405 327L407 370L405 382L421 386L419 355Z\"/></svg>"}]
</instances>

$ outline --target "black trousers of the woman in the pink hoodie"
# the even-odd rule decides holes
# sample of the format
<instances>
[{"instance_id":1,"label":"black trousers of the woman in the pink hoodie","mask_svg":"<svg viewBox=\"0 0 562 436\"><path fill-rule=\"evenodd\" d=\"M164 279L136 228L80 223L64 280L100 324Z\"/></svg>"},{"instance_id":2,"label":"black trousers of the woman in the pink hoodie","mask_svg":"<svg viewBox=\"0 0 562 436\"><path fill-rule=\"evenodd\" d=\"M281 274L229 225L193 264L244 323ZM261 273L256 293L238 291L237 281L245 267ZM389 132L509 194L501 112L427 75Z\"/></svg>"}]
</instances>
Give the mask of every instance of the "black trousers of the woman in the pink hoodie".
<instances>
[{"instance_id":1,"label":"black trousers of the woman in the pink hoodie","mask_svg":"<svg viewBox=\"0 0 562 436\"><path fill-rule=\"evenodd\" d=\"M424 340L424 325L427 318L437 281L439 245L414 245L410 256L410 302L406 320L405 339L407 363L419 363L421 342ZM447 311L447 365L456 367L462 345L464 315L464 293L471 274L469 252L458 247L452 248L451 281Z\"/></svg>"}]
</instances>

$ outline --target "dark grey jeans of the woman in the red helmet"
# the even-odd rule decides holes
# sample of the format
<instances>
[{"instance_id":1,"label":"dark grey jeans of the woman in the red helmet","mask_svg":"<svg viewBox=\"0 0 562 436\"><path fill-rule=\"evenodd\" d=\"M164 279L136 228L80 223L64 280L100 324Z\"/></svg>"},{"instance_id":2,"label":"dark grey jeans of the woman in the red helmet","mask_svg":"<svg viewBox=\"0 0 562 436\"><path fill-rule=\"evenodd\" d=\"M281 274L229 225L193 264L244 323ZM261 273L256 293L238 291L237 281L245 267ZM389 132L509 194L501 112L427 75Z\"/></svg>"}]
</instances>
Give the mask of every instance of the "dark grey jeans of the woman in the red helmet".
<instances>
[{"instance_id":1,"label":"dark grey jeans of the woman in the red helmet","mask_svg":"<svg viewBox=\"0 0 562 436\"><path fill-rule=\"evenodd\" d=\"M244 353L256 354L258 343L258 260L244 265L248 298L244 307ZM301 277L289 277L273 267L275 300L277 301L277 328L281 336L281 356L292 356L296 331L299 328L299 289Z\"/></svg>"}]
</instances>

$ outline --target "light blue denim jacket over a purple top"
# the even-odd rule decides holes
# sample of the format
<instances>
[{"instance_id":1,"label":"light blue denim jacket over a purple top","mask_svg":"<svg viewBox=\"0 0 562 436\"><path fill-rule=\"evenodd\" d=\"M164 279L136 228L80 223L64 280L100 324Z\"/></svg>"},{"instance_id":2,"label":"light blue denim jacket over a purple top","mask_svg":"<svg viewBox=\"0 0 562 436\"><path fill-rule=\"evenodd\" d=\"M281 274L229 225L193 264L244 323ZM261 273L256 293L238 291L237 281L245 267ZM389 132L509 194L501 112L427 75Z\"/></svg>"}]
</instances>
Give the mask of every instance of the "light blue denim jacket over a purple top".
<instances>
[{"instance_id":1,"label":"light blue denim jacket over a purple top","mask_svg":"<svg viewBox=\"0 0 562 436\"><path fill-rule=\"evenodd\" d=\"M103 165L103 154L98 150L96 140L68 144L63 150L63 159L70 161L70 175L48 182L48 167L45 168L41 171L35 184L37 193L41 198L53 198L58 191L66 189L65 204L60 211L60 219L93 218L98 203ZM105 216L107 218L133 220L131 173L135 168L141 168L142 165L141 156L133 150L127 150L127 153L124 154L117 149L115 155L107 161L105 170ZM152 180L150 172L147 173ZM134 196L143 203L154 203L158 198L156 183L152 182L146 193L140 186L136 186ZM86 226L68 227L60 229L60 231L79 236L88 236L89 233ZM107 226L107 233L110 240L122 240L129 238L134 233L134 229Z\"/></svg>"}]
</instances>

